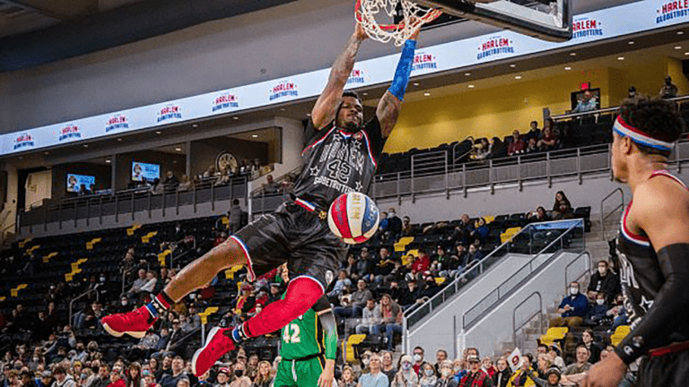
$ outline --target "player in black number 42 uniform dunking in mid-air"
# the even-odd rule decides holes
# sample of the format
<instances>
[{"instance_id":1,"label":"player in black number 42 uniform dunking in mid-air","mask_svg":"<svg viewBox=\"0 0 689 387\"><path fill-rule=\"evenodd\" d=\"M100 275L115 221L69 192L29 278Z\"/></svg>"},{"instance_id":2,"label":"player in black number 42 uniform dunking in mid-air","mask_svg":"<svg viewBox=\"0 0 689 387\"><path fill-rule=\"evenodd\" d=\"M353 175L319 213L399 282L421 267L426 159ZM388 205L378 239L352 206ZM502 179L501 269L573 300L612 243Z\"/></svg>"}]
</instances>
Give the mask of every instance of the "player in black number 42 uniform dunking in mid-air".
<instances>
[{"instance_id":1,"label":"player in black number 42 uniform dunking in mid-air","mask_svg":"<svg viewBox=\"0 0 689 387\"><path fill-rule=\"evenodd\" d=\"M249 279L287 262L295 275L283 300L234 330L209 335L192 359L194 374L204 374L215 360L250 337L277 331L304 314L323 296L326 272L345 259L346 245L323 221L323 211L342 193L367 192L388 135L397 122L414 62L415 38L406 41L392 85L379 101L376 116L363 124L362 103L346 91L354 58L366 32L357 24L345 51L337 57L325 90L311 111L306 129L305 161L294 187L295 198L271 215L240 229L222 245L189 263L153 302L127 314L104 317L106 331L141 337L161 313L189 292L205 286L223 269L246 264Z\"/></svg>"}]
</instances>

